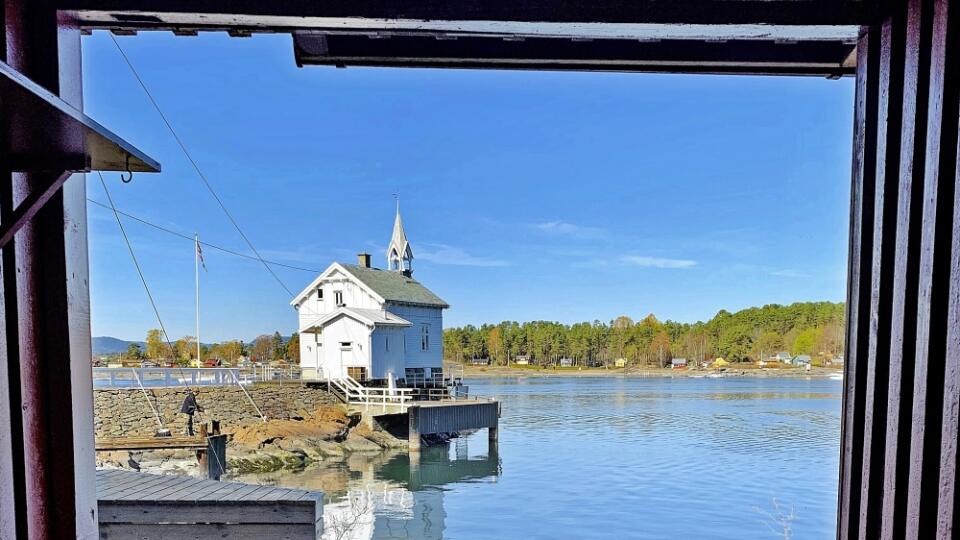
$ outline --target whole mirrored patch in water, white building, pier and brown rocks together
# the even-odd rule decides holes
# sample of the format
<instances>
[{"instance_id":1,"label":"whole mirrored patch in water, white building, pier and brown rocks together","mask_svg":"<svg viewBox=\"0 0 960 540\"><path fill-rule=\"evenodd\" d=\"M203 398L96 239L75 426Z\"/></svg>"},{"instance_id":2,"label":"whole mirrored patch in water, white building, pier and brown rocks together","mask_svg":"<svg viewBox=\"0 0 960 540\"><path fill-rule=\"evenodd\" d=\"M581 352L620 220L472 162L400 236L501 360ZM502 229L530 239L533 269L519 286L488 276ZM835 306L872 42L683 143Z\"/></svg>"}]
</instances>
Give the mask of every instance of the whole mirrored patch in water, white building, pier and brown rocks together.
<instances>
[{"instance_id":1,"label":"whole mirrored patch in water, white building, pier and brown rocks together","mask_svg":"<svg viewBox=\"0 0 960 540\"><path fill-rule=\"evenodd\" d=\"M471 453L470 445L480 442L454 439L419 455L353 454L297 473L241 480L323 490L325 540L441 539L447 517L444 486L493 482L500 476L495 444Z\"/></svg>"}]
</instances>

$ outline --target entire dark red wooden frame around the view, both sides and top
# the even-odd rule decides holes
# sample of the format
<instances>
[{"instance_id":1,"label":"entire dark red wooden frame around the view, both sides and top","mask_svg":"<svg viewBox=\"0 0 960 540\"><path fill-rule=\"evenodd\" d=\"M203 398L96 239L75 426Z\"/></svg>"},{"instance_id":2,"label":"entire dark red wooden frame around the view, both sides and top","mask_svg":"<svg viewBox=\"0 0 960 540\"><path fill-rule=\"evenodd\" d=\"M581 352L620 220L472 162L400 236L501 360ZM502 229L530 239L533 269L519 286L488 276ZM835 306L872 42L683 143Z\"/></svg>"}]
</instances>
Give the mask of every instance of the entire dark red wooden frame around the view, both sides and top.
<instances>
[{"instance_id":1,"label":"entire dark red wooden frame around the view, both sides and top","mask_svg":"<svg viewBox=\"0 0 960 540\"><path fill-rule=\"evenodd\" d=\"M77 101L79 55L64 51L62 42L58 49L58 32L63 39L83 26L79 20L91 28L167 28L182 34L209 29L202 15L210 13L266 21L254 28L223 28L237 35L291 31L295 28L271 28L269 21L299 15L862 25L837 536L954 536L960 429L960 0L4 0L4 6L6 39L0 52L5 60L54 92L66 82ZM195 17L171 25L164 17L172 13ZM736 54L736 48L728 49ZM49 185L49 177L39 173L3 173L0 222L15 219L15 202L36 199L31 194ZM85 275L85 245L71 245L64 233L71 215L83 215L83 204L82 190L55 193L14 236L14 245L3 249L0 390L8 399L0 400L0 431L8 430L23 444L3 448L0 437L0 477L4 471L16 473L0 485L3 513L13 516L12 521L0 517L0 535L72 536L76 524L88 519L74 504L78 490L88 486L74 479L76 467L89 464L73 462L67 448L78 444L76 434L69 416L60 414L72 403L69 370L46 369L51 363L78 369L89 360L78 358L75 347L78 340L89 341L89 327L84 332L82 324L68 323L87 307L86 284L72 277L76 271ZM83 220L70 223L79 223L82 233Z\"/></svg>"}]
</instances>

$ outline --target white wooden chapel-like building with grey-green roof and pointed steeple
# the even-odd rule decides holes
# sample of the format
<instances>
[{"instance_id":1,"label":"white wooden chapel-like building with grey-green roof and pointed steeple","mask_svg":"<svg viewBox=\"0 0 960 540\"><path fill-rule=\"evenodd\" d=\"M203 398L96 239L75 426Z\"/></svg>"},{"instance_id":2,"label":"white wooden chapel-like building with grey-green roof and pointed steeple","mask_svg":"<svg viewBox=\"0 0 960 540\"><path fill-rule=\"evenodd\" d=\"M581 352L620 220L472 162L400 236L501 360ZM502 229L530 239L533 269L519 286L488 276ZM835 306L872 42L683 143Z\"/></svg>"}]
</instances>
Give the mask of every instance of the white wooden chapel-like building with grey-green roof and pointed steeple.
<instances>
[{"instance_id":1,"label":"white wooden chapel-like building with grey-green roof and pointed steeple","mask_svg":"<svg viewBox=\"0 0 960 540\"><path fill-rule=\"evenodd\" d=\"M442 382L443 310L450 306L413 279L399 208L386 254L386 269L373 268L366 253L358 264L335 262L290 302L299 314L304 379Z\"/></svg>"}]
</instances>

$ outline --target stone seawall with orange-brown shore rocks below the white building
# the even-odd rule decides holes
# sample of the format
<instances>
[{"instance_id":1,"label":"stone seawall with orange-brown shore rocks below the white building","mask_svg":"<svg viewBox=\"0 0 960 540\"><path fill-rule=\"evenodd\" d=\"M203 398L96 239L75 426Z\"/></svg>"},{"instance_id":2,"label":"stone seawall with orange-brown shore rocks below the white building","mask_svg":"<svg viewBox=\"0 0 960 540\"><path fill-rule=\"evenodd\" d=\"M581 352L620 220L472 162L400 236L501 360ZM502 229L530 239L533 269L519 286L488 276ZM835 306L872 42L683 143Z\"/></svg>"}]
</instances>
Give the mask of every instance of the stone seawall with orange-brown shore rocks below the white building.
<instances>
[{"instance_id":1,"label":"stone seawall with orange-brown shore rocks below the white building","mask_svg":"<svg viewBox=\"0 0 960 540\"><path fill-rule=\"evenodd\" d=\"M204 408L202 421L220 420L231 434L227 468L232 474L297 469L313 462L342 460L351 453L382 452L406 448L405 439L360 424L349 417L336 398L324 390L300 386L248 387L267 422L263 422L243 391L237 387L206 387L197 395ZM180 413L186 389L147 390L164 427L174 434L185 431ZM97 437L151 436L157 429L153 410L139 389L94 391ZM201 418L195 418L201 421ZM151 472L196 473L190 451L101 452L98 466Z\"/></svg>"}]
</instances>

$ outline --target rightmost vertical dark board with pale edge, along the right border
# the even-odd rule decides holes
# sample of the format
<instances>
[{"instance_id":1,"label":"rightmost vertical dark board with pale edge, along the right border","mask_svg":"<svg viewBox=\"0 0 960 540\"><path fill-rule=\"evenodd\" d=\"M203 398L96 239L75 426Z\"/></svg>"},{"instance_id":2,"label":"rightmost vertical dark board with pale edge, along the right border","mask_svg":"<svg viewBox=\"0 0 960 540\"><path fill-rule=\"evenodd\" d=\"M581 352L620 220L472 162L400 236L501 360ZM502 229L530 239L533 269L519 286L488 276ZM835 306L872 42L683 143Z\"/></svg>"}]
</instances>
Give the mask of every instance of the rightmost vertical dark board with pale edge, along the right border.
<instances>
[{"instance_id":1,"label":"rightmost vertical dark board with pale edge, along the right border","mask_svg":"<svg viewBox=\"0 0 960 540\"><path fill-rule=\"evenodd\" d=\"M905 538L933 537L937 521L953 517L938 507L944 357L950 289L952 212L957 173L960 100L960 3L936 0L930 47L930 88L920 223L919 295L913 424Z\"/></svg>"}]
</instances>

